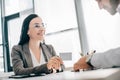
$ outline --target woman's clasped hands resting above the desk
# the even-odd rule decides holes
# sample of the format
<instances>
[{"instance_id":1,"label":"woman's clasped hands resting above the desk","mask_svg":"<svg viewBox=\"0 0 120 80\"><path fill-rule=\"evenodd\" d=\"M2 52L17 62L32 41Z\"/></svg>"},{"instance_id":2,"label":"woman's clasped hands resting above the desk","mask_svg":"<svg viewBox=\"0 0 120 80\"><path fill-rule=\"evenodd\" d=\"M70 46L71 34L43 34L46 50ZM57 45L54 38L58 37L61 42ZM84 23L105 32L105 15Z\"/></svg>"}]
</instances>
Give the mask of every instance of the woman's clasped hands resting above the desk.
<instances>
[{"instance_id":1,"label":"woman's clasped hands resting above the desk","mask_svg":"<svg viewBox=\"0 0 120 80\"><path fill-rule=\"evenodd\" d=\"M47 67L48 69L59 70L61 68L61 64L63 64L62 59L58 56L54 56L48 61Z\"/></svg>"}]
</instances>

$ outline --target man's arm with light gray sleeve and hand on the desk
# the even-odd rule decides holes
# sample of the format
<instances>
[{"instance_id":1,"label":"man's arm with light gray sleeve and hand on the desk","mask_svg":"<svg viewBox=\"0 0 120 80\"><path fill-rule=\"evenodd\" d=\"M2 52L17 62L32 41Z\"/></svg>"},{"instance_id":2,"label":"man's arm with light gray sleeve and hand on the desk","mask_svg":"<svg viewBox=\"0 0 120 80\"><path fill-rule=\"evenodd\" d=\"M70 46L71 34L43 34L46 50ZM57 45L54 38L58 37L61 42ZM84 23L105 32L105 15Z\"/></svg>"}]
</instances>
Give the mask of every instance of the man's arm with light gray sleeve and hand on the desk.
<instances>
[{"instance_id":1,"label":"man's arm with light gray sleeve and hand on the desk","mask_svg":"<svg viewBox=\"0 0 120 80\"><path fill-rule=\"evenodd\" d=\"M113 68L120 67L120 47L116 49L111 49L104 53L95 53L87 62L89 55L83 56L74 64L74 70L79 69L89 69L89 68ZM91 66L92 65L92 66Z\"/></svg>"}]
</instances>

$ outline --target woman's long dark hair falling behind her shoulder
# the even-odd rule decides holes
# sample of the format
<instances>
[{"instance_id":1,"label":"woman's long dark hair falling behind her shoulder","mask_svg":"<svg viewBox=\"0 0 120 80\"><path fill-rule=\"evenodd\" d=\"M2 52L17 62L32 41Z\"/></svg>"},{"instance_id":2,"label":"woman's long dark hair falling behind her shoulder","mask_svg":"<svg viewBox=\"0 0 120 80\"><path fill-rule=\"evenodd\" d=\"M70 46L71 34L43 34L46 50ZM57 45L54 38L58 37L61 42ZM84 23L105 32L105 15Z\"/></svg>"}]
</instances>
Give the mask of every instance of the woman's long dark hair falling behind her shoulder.
<instances>
[{"instance_id":1,"label":"woman's long dark hair falling behind her shoulder","mask_svg":"<svg viewBox=\"0 0 120 80\"><path fill-rule=\"evenodd\" d=\"M36 17L39 17L39 16L36 14L30 14L29 16L27 16L24 19L23 24L22 24L22 29L21 29L20 41L19 41L18 45L23 45L23 44L29 42L30 38L27 34L28 29L29 29L29 24L30 24L30 21Z\"/></svg>"}]
</instances>

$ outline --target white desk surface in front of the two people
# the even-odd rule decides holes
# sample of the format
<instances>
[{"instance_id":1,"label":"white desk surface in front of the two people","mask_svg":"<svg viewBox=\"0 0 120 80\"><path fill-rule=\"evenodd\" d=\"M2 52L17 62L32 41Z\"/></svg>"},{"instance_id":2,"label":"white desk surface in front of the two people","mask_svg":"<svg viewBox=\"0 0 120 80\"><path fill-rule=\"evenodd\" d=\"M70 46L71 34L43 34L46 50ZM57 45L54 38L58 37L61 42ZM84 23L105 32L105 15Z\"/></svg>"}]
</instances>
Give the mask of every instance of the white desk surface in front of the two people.
<instances>
[{"instance_id":1,"label":"white desk surface in front of the two people","mask_svg":"<svg viewBox=\"0 0 120 80\"><path fill-rule=\"evenodd\" d=\"M18 80L13 78L9 79L8 76L12 74L13 73L4 73L4 76L1 77L0 80ZM71 72L69 70L61 73L22 78L19 80L120 80L120 68L99 69L84 72Z\"/></svg>"}]
</instances>

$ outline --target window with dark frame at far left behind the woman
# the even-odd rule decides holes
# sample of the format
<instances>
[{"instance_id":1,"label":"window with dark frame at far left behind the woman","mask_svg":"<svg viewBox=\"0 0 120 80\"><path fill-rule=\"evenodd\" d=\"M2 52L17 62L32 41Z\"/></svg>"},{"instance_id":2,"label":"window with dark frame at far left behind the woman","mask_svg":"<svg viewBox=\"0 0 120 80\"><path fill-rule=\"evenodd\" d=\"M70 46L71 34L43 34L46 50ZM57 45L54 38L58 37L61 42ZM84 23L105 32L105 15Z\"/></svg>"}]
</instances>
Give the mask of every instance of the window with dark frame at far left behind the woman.
<instances>
[{"instance_id":1,"label":"window with dark frame at far left behind the woman","mask_svg":"<svg viewBox=\"0 0 120 80\"><path fill-rule=\"evenodd\" d=\"M16 4L14 4L16 3ZM4 71L12 71L11 49L17 45L22 27L23 19L31 13L34 13L33 0L3 0L3 18L4 18L4 44L3 59Z\"/></svg>"}]
</instances>

